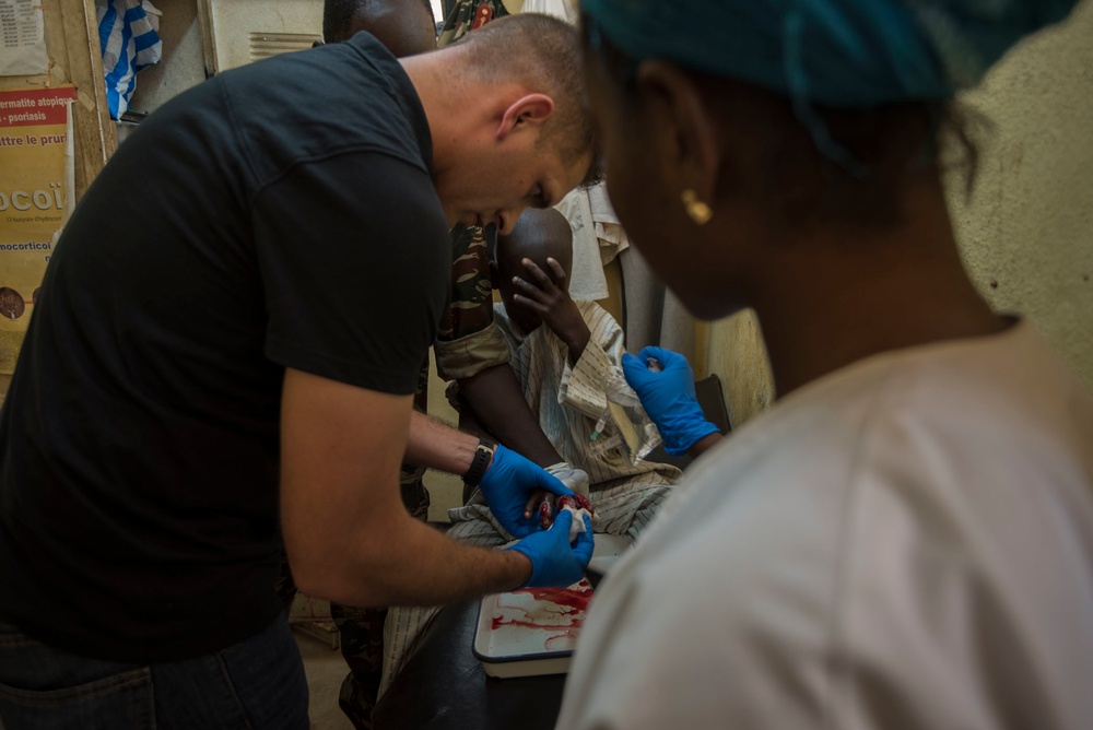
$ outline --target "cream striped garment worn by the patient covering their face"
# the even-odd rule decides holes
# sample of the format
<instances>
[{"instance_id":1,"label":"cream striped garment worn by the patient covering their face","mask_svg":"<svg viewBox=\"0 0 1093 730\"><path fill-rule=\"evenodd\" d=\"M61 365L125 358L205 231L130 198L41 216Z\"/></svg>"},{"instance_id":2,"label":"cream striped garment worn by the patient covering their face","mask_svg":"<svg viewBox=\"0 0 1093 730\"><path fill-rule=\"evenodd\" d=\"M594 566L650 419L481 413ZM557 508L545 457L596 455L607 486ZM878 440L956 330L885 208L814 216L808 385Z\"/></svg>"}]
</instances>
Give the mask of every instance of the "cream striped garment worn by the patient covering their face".
<instances>
[{"instance_id":1,"label":"cream striped garment worn by the patient covering their face","mask_svg":"<svg viewBox=\"0 0 1093 730\"><path fill-rule=\"evenodd\" d=\"M574 366L568 350L549 328L540 327L520 339L513 330L504 306L494 305L494 321L509 344L509 364L516 370L528 405L557 452L571 466L584 469L595 508L592 530L627 538L633 542L649 523L673 484L683 473L670 464L640 461L631 463L620 449L601 451L589 439L607 409L603 384L612 375L622 377L619 365L623 332L615 320L593 302L577 302L591 337ZM604 437L610 437L610 425ZM504 440L502 438L502 440ZM498 548L513 541L494 519L475 490L468 504L448 510L448 537L483 548ZM384 626L384 680L379 695L412 656L418 640L439 608L395 608Z\"/></svg>"}]
</instances>

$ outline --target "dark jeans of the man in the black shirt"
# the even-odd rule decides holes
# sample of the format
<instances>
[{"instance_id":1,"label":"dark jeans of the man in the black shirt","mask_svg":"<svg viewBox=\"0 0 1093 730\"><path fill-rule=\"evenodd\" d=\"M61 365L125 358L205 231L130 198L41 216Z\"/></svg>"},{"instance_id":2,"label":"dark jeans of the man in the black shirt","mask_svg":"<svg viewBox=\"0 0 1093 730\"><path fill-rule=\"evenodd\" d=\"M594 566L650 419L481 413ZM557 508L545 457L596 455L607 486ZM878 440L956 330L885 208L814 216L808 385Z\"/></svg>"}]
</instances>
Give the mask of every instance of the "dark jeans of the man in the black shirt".
<instances>
[{"instance_id":1,"label":"dark jeans of the man in the black shirt","mask_svg":"<svg viewBox=\"0 0 1093 730\"><path fill-rule=\"evenodd\" d=\"M299 650L279 616L216 654L160 664L87 659L0 623L4 730L307 730Z\"/></svg>"}]
</instances>

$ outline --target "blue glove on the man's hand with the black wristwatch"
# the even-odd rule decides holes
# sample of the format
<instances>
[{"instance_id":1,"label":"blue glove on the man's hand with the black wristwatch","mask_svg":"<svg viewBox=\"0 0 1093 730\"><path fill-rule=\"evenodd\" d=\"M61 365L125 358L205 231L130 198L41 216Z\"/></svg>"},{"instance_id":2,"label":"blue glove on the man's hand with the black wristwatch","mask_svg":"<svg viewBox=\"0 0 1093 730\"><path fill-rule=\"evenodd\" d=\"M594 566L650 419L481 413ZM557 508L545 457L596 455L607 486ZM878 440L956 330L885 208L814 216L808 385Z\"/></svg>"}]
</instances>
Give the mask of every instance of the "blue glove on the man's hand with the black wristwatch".
<instances>
[{"instance_id":1,"label":"blue glove on the man's hand with the black wristwatch","mask_svg":"<svg viewBox=\"0 0 1093 730\"><path fill-rule=\"evenodd\" d=\"M509 534L525 538L541 530L539 513L524 517L524 508L538 487L557 496L573 496L573 490L560 482L539 464L497 444L493 462L479 483L490 511Z\"/></svg>"}]
</instances>

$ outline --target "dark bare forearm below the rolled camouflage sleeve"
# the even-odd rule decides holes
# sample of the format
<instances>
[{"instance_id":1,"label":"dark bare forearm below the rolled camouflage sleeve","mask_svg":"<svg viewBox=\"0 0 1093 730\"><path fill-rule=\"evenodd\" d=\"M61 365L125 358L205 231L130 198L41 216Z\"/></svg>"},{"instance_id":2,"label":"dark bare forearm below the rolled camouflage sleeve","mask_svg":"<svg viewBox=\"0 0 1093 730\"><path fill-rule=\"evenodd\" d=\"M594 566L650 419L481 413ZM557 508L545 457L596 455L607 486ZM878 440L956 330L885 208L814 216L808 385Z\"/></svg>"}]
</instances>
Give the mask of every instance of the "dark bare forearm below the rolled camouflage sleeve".
<instances>
[{"instance_id":1,"label":"dark bare forearm below the rolled camouflage sleeve","mask_svg":"<svg viewBox=\"0 0 1093 730\"><path fill-rule=\"evenodd\" d=\"M459 390L490 433L504 434L498 438L505 446L540 467L563 460L528 408L516 374L508 364L494 365L459 380Z\"/></svg>"}]
</instances>

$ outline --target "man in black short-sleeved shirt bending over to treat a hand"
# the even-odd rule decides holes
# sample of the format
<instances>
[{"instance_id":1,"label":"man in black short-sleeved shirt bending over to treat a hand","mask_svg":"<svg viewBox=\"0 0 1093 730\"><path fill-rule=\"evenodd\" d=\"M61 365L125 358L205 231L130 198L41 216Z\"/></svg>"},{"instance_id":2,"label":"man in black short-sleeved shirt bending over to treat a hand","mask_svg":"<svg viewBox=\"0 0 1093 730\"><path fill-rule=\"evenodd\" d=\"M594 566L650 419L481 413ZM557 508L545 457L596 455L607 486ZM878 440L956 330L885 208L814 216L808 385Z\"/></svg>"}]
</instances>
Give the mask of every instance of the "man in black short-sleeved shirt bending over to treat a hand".
<instances>
[{"instance_id":1,"label":"man in black short-sleeved shirt bending over to treat a hand","mask_svg":"<svg viewBox=\"0 0 1093 730\"><path fill-rule=\"evenodd\" d=\"M118 150L0 416L9 730L306 727L282 535L304 591L353 605L579 577L590 540L524 517L566 487L410 408L448 227L508 231L591 167L574 35L517 16L399 62L361 34L220 74ZM480 481L528 537L475 550L414 520L403 456Z\"/></svg>"}]
</instances>

